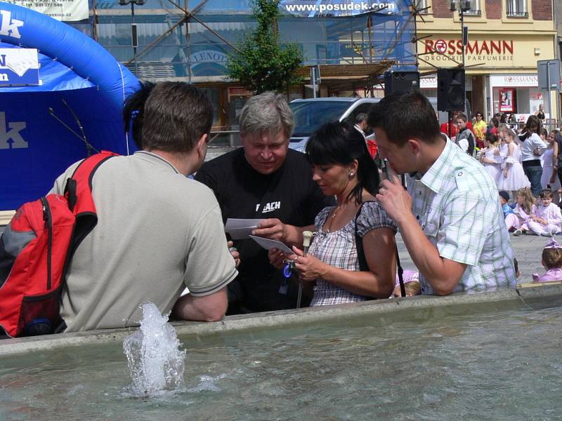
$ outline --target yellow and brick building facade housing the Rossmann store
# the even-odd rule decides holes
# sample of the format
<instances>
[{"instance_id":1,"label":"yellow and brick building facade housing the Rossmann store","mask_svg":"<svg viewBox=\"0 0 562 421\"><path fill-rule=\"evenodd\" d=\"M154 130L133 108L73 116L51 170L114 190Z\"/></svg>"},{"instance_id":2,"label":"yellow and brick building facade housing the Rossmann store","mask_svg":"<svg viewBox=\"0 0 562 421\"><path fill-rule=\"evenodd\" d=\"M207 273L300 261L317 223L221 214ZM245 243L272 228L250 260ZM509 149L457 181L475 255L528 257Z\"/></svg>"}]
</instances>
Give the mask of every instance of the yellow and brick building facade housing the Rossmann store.
<instances>
[{"instance_id":1,"label":"yellow and brick building facade housing the Rossmann store","mask_svg":"<svg viewBox=\"0 0 562 421\"><path fill-rule=\"evenodd\" d=\"M417 22L420 85L437 95L438 67L466 64L466 95L473 111L490 118L497 112L525 121L544 106L547 119L558 119L558 95L541 91L537 61L558 57L554 2L558 0L471 0L464 13L468 43L463 49L459 12L450 0L424 0ZM457 5L459 1L457 1ZM549 120L554 124L554 120Z\"/></svg>"}]
</instances>

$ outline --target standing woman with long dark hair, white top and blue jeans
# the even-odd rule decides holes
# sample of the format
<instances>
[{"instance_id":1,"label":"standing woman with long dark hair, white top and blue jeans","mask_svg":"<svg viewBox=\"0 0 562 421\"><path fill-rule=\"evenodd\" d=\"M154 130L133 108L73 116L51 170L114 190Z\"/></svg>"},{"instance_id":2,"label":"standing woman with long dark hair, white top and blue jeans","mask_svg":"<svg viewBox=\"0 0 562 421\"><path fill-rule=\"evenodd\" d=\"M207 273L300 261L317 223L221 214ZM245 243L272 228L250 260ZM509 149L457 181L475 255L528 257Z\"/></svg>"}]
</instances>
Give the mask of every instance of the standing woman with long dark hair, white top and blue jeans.
<instances>
[{"instance_id":1,"label":"standing woman with long dark hair, white top and blue jeans","mask_svg":"<svg viewBox=\"0 0 562 421\"><path fill-rule=\"evenodd\" d=\"M542 177L542 166L540 156L547 149L547 144L540 138L541 125L537 116L529 116L519 140L521 140L521 162L523 171L531 182L531 191L535 197L539 196L542 190L540 179Z\"/></svg>"}]
</instances>

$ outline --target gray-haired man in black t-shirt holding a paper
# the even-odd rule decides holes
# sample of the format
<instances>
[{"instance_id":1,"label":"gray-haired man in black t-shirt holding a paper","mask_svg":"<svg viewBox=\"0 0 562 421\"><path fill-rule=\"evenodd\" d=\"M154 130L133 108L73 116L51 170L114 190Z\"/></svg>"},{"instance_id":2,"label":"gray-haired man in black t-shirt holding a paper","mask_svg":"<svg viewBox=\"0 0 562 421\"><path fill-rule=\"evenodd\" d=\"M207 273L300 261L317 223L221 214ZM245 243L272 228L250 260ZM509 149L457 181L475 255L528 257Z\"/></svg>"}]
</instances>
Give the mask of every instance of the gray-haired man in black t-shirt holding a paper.
<instances>
[{"instance_id":1,"label":"gray-haired man in black t-shirt holding a paper","mask_svg":"<svg viewBox=\"0 0 562 421\"><path fill-rule=\"evenodd\" d=\"M195 176L214 191L224 221L261 219L253 234L288 246L302 245L302 232L313 230L315 216L334 204L313 182L306 156L289 149L293 127L282 95L256 95L240 115L243 147L204 163ZM298 286L270 265L267 250L251 239L235 241L235 247L241 263L229 286L227 314L295 308Z\"/></svg>"}]
</instances>

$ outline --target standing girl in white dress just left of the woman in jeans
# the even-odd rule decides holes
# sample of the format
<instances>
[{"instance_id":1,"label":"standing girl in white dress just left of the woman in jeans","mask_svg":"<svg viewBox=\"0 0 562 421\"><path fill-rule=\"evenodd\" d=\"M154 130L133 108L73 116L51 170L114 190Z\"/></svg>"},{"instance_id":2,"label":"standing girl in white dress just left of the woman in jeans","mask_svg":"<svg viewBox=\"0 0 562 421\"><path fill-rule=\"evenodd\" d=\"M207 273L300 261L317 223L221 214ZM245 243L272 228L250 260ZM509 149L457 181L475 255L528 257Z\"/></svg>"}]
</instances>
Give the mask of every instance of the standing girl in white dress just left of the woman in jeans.
<instances>
[{"instance_id":1,"label":"standing girl in white dress just left of the woman in jeans","mask_svg":"<svg viewBox=\"0 0 562 421\"><path fill-rule=\"evenodd\" d=\"M503 128L504 142L507 145L507 156L504 160L504 169L500 174L497 187L511 194L516 201L516 192L523 187L530 187L531 183L521 165L521 148L515 142L516 134L511 128Z\"/></svg>"}]
</instances>

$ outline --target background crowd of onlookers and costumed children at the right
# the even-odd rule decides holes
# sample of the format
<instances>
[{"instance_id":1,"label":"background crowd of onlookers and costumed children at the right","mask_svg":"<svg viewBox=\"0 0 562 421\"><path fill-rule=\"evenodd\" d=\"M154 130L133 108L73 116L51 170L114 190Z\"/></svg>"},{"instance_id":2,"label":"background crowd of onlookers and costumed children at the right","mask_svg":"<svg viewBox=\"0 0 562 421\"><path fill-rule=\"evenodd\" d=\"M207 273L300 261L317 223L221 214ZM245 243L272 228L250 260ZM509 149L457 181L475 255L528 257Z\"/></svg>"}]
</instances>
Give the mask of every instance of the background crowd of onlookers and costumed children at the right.
<instances>
[{"instance_id":1,"label":"background crowd of onlookers and costumed children at the right","mask_svg":"<svg viewBox=\"0 0 562 421\"><path fill-rule=\"evenodd\" d=\"M562 232L562 135L560 129L542 126L544 110L530 115L519 127L514 114L495 114L487 124L476 112L472 128L466 116L455 112L456 130L452 140L467 154L480 161L497 185L499 202L507 230L514 236L551 236ZM441 126L442 133L450 128ZM474 136L474 152L471 142ZM560 170L558 168L561 168ZM542 264L547 270L533 281L562 280L562 246L556 241L544 248Z\"/></svg>"}]
</instances>

